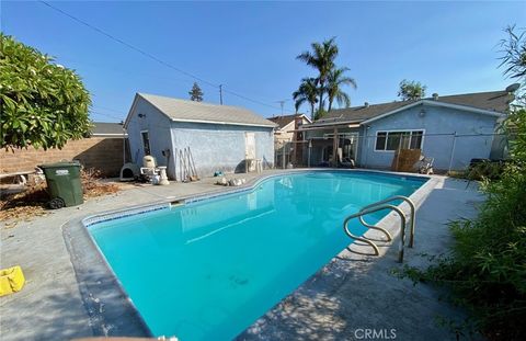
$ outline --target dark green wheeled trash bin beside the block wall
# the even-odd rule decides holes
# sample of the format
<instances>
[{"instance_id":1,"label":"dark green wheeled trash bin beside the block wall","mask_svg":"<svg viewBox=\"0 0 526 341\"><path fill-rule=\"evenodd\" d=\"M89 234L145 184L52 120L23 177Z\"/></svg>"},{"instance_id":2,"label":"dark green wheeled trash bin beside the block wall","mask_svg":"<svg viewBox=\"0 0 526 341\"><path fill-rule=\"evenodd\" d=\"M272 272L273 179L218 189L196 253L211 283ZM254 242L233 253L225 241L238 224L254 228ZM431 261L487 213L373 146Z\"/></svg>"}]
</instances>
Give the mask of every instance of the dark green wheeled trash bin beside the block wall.
<instances>
[{"instance_id":1,"label":"dark green wheeled trash bin beside the block wall","mask_svg":"<svg viewBox=\"0 0 526 341\"><path fill-rule=\"evenodd\" d=\"M77 206L84 202L80 181L80 163L57 162L38 166L44 171L50 208Z\"/></svg>"}]
</instances>

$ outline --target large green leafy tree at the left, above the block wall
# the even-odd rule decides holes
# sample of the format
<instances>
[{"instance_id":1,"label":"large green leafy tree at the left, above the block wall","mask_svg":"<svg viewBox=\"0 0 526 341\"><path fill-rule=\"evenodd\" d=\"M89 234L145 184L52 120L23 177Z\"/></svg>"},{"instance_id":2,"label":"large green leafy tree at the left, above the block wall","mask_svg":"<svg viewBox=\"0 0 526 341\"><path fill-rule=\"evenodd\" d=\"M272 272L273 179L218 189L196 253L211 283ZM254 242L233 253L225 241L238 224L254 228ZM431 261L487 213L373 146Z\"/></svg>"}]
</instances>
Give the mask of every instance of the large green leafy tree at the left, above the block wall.
<instances>
[{"instance_id":1,"label":"large green leafy tree at the left, above the block wall","mask_svg":"<svg viewBox=\"0 0 526 341\"><path fill-rule=\"evenodd\" d=\"M0 33L2 148L61 148L89 134L90 94L72 70Z\"/></svg>"}]
</instances>

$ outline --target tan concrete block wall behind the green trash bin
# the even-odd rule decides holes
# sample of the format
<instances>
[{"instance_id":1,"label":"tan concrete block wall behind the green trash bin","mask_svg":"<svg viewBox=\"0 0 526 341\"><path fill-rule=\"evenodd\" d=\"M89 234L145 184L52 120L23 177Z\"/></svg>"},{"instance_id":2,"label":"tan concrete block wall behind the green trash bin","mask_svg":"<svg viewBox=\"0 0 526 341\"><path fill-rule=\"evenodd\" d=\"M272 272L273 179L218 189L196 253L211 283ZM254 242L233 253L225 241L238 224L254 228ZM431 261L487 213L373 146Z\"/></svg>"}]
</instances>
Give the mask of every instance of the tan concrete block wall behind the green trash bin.
<instances>
[{"instance_id":1,"label":"tan concrete block wall behind the green trash bin","mask_svg":"<svg viewBox=\"0 0 526 341\"><path fill-rule=\"evenodd\" d=\"M105 177L117 177L123 166L123 139L90 137L70 140L62 149L15 149L0 151L0 173L32 171L42 163L79 160L84 168L94 168Z\"/></svg>"}]
</instances>

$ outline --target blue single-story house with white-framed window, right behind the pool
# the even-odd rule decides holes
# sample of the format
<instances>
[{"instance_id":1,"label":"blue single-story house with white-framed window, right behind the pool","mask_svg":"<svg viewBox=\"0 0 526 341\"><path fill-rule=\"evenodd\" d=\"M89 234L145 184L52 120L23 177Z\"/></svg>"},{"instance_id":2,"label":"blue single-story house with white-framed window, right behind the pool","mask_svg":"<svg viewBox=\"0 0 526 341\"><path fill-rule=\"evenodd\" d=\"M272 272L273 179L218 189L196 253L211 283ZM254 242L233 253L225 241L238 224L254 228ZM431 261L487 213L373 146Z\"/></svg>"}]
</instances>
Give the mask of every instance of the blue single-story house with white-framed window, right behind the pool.
<instances>
[{"instance_id":1,"label":"blue single-story house with white-framed window, right behind the pool","mask_svg":"<svg viewBox=\"0 0 526 341\"><path fill-rule=\"evenodd\" d=\"M387 169L397 149L421 149L438 170L500 159L505 139L499 126L514 99L511 89L333 110L299 128L309 146L304 159L310 166L353 159L359 167Z\"/></svg>"}]
</instances>

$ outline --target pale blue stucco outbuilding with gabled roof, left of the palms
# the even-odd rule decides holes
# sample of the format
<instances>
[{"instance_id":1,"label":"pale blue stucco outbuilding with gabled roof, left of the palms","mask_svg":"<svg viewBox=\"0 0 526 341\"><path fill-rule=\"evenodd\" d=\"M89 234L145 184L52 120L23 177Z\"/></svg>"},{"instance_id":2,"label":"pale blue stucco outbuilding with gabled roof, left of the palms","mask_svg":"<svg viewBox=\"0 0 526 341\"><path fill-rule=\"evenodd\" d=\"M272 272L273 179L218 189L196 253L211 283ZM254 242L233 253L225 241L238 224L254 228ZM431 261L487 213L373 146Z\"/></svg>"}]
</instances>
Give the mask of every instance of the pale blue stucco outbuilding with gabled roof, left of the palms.
<instances>
[{"instance_id":1,"label":"pale blue stucco outbuilding with gabled roof, left of the palms","mask_svg":"<svg viewBox=\"0 0 526 341\"><path fill-rule=\"evenodd\" d=\"M190 148L199 177L244 171L247 159L274 166L275 124L243 107L137 93L124 124L132 162L151 155L181 180L181 151Z\"/></svg>"}]
</instances>

